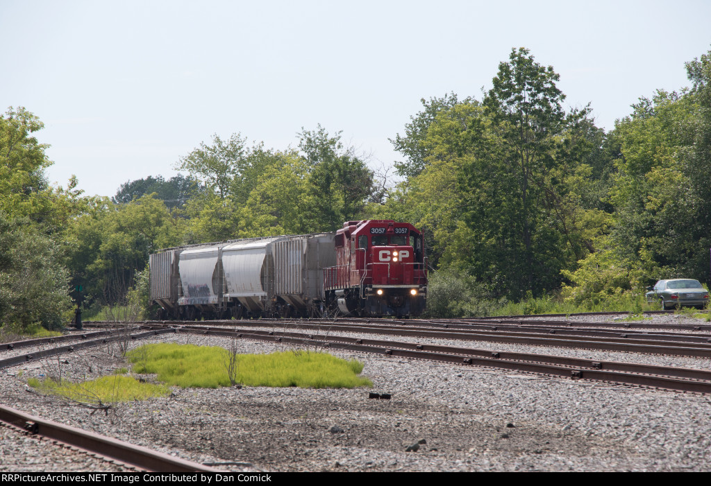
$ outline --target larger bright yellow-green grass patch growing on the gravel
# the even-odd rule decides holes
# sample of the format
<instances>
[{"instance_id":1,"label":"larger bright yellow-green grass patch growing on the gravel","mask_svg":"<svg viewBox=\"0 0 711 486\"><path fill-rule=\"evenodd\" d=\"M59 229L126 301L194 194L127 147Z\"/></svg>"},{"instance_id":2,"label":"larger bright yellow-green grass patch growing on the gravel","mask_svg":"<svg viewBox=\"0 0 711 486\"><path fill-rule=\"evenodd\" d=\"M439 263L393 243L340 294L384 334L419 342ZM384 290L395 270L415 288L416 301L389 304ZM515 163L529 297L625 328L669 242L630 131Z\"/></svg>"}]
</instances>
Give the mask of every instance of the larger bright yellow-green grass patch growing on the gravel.
<instances>
[{"instance_id":1,"label":"larger bright yellow-green grass patch growing on the gravel","mask_svg":"<svg viewBox=\"0 0 711 486\"><path fill-rule=\"evenodd\" d=\"M156 373L167 385L218 388L232 385L227 372L230 353L218 346L146 344L129 351L134 372ZM353 388L373 386L358 376L363 364L326 353L286 351L237 355L235 381L250 387Z\"/></svg>"}]
</instances>

